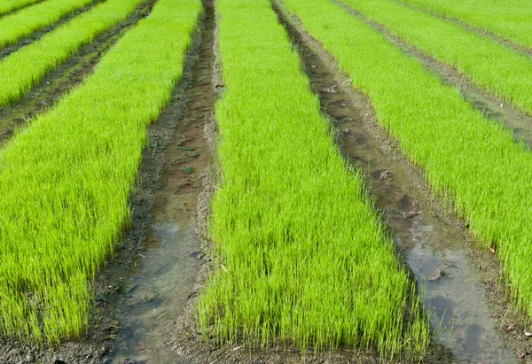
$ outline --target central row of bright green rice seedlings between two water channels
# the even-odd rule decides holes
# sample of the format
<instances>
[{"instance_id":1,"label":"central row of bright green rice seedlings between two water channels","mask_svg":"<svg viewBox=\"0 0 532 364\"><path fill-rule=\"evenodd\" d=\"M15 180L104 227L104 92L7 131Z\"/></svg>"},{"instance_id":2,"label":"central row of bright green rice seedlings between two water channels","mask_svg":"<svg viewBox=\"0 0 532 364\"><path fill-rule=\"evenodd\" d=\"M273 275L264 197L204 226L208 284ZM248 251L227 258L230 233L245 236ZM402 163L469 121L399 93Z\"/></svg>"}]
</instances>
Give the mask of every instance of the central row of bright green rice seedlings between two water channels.
<instances>
[{"instance_id":1,"label":"central row of bright green rice seedlings between two water channels","mask_svg":"<svg viewBox=\"0 0 532 364\"><path fill-rule=\"evenodd\" d=\"M199 304L220 343L425 351L419 306L268 0L218 0L225 91L215 264Z\"/></svg>"}]
</instances>

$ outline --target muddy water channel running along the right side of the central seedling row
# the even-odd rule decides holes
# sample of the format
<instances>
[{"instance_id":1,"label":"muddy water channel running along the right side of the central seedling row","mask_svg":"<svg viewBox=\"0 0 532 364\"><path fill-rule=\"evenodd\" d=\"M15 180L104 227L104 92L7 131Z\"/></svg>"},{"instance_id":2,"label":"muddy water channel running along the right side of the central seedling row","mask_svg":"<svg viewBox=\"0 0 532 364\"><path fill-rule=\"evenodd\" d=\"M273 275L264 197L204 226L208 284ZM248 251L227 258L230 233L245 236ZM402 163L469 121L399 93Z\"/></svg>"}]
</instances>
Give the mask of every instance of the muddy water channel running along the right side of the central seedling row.
<instances>
[{"instance_id":1,"label":"muddy water channel running along the right side of the central seedling row","mask_svg":"<svg viewBox=\"0 0 532 364\"><path fill-rule=\"evenodd\" d=\"M400 151L387 145L389 141L383 141L369 101L349 91L345 77L335 76L323 50L310 48L319 45L296 30L297 20L287 22L282 15L279 19L300 50L322 112L338 129L344 157L364 171L403 259L425 288L424 303L437 341L454 356L449 361L516 362L517 355L507 347L489 314L482 276L461 229L446 221L445 210L431 199L422 174L402 159Z\"/></svg>"}]
</instances>

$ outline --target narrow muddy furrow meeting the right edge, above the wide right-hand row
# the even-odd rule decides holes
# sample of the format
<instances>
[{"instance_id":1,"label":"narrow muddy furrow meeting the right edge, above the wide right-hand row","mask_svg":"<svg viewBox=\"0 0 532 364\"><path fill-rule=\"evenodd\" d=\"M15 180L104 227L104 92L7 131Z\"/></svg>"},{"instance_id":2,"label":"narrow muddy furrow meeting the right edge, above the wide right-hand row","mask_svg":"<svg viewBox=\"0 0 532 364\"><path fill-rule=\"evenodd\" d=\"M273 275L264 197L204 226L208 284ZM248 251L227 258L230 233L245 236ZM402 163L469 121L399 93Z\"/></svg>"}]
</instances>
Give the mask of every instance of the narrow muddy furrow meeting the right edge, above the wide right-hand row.
<instances>
[{"instance_id":1,"label":"narrow muddy furrow meeting the right edge, above the wide right-hand row","mask_svg":"<svg viewBox=\"0 0 532 364\"><path fill-rule=\"evenodd\" d=\"M363 13L353 10L348 5L342 4L337 0L331 1L379 31L388 42L394 44L405 54L418 58L426 69L439 77L444 84L456 87L464 100L472 105L474 109L482 112L489 120L502 123L512 133L516 142L526 143L529 147L532 147L532 115L518 110L502 98L492 96L488 91L475 86L473 81L465 74L460 74L456 68L445 65L424 51L405 43L399 36L391 34L387 27L368 19Z\"/></svg>"}]
</instances>

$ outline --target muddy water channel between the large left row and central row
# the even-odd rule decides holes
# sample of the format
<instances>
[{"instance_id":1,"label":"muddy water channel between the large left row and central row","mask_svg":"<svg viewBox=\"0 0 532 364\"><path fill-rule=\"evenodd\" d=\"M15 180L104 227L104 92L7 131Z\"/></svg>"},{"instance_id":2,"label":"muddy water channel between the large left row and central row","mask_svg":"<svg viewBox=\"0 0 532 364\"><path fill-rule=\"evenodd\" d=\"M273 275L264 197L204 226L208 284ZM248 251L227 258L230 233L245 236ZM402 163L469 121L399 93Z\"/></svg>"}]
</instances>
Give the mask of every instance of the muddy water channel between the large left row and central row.
<instances>
[{"instance_id":1,"label":"muddy water channel between the large left row and central row","mask_svg":"<svg viewBox=\"0 0 532 364\"><path fill-rule=\"evenodd\" d=\"M202 190L201 172L209 162L205 120L214 112L214 8L206 1L202 30L195 36L193 53L185 65L182 92L162 112L158 123L177 119L173 133L153 136L150 148L164 150L160 187L155 191L145 242L135 253L130 277L119 299L121 330L106 362L188 363L166 349L176 318L196 282L200 265L200 237L196 215ZM196 48L196 50L193 50ZM192 66L192 69L191 69ZM175 97L176 98L176 97ZM201 202L200 202L201 203Z\"/></svg>"}]
</instances>

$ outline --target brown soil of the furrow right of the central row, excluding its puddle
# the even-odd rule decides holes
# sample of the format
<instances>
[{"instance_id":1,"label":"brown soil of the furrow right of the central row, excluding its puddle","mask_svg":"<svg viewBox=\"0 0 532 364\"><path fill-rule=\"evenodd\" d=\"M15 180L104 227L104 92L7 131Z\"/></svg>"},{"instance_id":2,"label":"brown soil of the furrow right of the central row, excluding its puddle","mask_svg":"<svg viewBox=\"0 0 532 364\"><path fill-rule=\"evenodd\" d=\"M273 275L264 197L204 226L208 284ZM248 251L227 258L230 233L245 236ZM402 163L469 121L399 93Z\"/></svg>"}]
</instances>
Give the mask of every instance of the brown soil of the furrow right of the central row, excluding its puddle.
<instances>
[{"instance_id":1,"label":"brown soil of the furrow right of the central row, excluding its puddle","mask_svg":"<svg viewBox=\"0 0 532 364\"><path fill-rule=\"evenodd\" d=\"M489 311L485 313L486 316L493 317L497 323L499 335L504 337L505 344L512 347L515 352L514 357L508 359L512 362L518 357L522 357L521 360L532 362L532 358L528 354L528 352L532 352L532 340L528 340L528 337L524 335L525 330L528 329L528 321L522 315L513 312L509 300L505 297L505 283L499 284L500 266L495 255L476 249L472 236L468 234L467 222L452 213L451 208L444 207L442 201L434 196L426 186L423 171L414 167L403 157L399 144L379 126L379 122L372 111L370 100L349 86L346 82L349 80L348 75L342 74L332 56L304 30L301 20L295 16L286 16L285 19L289 23L289 33L296 39L300 50L302 49L303 59L308 59L305 62L305 68L313 79L313 83L317 84L317 93L322 101L322 107L326 113L332 115L332 120L335 121L335 125L340 130L340 149L346 159L364 171L368 184L376 196L377 205L383 207L385 221L387 221L391 234L395 236L395 240L397 241L397 237L399 240L407 237L404 236L402 228L404 221L401 220L401 217L404 219L407 216L401 213L397 219L397 210L403 211L404 207L408 208L408 205L410 205L411 211L417 212L417 209L420 209L423 210L421 211L423 214L405 220L415 221L415 219L430 217L444 223L446 233L458 236L459 241L463 243L467 259L471 261L473 270L476 271L475 275L479 277L478 285L485 291L489 306ZM322 83L324 78L325 80L329 79L329 82L331 79L330 76L320 75L320 70L325 74L332 75L332 84ZM335 90L335 97L331 97L331 89ZM354 120L349 120L352 115L341 114L342 109L345 110L349 104L358 114L358 117L353 118ZM368 149L371 151L368 152ZM388 160L385 170L379 167L379 163L382 162L377 158L378 150ZM368 169L370 165L372 166L371 170ZM384 176L383 172L387 171L391 174L390 178L381 179L381 176ZM397 194L401 190L407 191L407 193L400 192ZM399 196L409 198L405 200L403 197L401 200L397 200L396 198ZM411 198L412 196L416 198ZM412 204L413 201L417 203ZM400 206L400 208L394 211L394 206L395 208ZM430 224L436 226L437 222L430 221ZM398 243L403 247L407 246L404 241ZM468 304L473 305L473 302ZM430 355L429 353L426 362L437 362ZM445 355L440 358L440 362L450 362L449 360L450 358Z\"/></svg>"}]
</instances>

